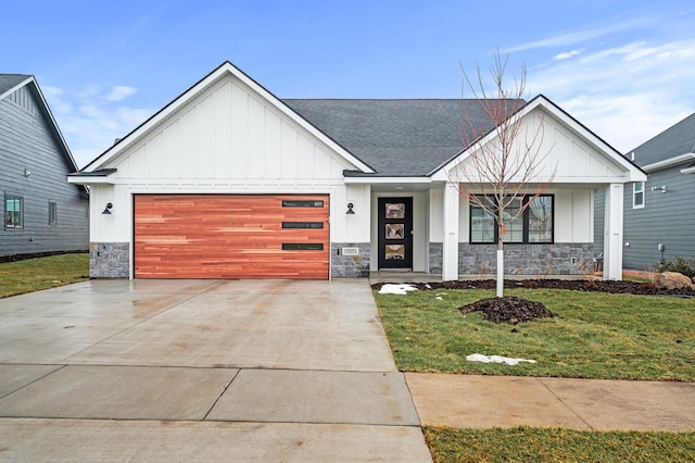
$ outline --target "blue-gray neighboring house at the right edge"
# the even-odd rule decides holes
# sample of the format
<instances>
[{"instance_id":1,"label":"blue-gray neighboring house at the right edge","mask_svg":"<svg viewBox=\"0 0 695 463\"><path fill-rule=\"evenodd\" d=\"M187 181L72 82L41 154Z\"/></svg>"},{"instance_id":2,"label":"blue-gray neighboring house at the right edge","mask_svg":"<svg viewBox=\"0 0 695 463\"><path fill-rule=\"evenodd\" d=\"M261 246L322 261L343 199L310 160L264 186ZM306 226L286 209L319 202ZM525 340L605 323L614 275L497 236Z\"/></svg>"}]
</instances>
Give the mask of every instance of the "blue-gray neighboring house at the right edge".
<instances>
[{"instance_id":1,"label":"blue-gray neighboring house at the right edge","mask_svg":"<svg viewBox=\"0 0 695 463\"><path fill-rule=\"evenodd\" d=\"M650 271L677 255L695 260L695 114L626 158L648 180L630 185L624 196L623 266Z\"/></svg>"}]
</instances>

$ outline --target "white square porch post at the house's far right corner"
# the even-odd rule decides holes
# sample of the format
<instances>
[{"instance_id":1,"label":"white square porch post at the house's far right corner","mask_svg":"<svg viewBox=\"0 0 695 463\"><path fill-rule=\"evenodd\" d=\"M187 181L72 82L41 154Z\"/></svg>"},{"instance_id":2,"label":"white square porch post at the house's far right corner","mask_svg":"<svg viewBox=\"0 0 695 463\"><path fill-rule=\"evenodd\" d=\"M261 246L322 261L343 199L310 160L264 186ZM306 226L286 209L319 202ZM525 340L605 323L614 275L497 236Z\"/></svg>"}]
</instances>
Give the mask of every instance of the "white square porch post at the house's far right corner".
<instances>
[{"instance_id":1,"label":"white square porch post at the house's far right corner","mask_svg":"<svg viewBox=\"0 0 695 463\"><path fill-rule=\"evenodd\" d=\"M606 188L604 220L604 279L622 279L622 210L623 184Z\"/></svg>"}]
</instances>

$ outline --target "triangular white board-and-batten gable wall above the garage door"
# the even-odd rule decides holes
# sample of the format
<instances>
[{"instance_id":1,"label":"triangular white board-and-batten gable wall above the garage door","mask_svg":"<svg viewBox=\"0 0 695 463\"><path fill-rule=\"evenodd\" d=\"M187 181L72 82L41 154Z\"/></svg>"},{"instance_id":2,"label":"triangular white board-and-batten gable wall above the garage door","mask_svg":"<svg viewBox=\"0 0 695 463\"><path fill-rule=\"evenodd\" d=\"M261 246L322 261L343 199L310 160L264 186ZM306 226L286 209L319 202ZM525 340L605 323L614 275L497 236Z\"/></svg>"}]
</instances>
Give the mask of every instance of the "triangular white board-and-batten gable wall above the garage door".
<instances>
[{"instance_id":1,"label":"triangular white board-and-batten gable wall above the garage door","mask_svg":"<svg viewBox=\"0 0 695 463\"><path fill-rule=\"evenodd\" d=\"M354 168L231 76L164 121L108 167L123 179L342 180Z\"/></svg>"}]
</instances>

